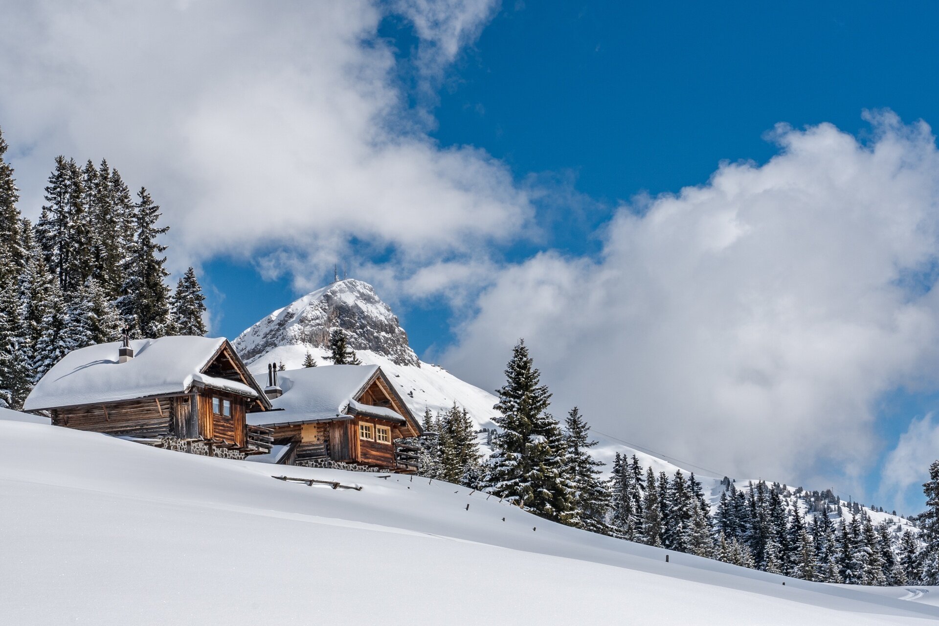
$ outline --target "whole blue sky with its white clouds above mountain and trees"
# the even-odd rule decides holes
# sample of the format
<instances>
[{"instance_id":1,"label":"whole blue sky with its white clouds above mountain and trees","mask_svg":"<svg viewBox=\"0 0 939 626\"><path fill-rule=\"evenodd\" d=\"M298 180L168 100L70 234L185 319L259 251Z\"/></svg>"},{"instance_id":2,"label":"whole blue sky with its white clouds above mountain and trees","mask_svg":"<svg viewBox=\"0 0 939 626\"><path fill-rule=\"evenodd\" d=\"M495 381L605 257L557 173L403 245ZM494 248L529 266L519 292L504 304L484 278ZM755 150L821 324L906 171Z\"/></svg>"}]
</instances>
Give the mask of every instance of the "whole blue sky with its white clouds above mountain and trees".
<instances>
[{"instance_id":1,"label":"whole blue sky with its white clouds above mountain and trees","mask_svg":"<svg viewBox=\"0 0 939 626\"><path fill-rule=\"evenodd\" d=\"M338 262L481 387L524 336L558 413L915 509L939 7L634 4L23 5L0 124L27 215L57 154L146 184L217 334Z\"/></svg>"}]
</instances>

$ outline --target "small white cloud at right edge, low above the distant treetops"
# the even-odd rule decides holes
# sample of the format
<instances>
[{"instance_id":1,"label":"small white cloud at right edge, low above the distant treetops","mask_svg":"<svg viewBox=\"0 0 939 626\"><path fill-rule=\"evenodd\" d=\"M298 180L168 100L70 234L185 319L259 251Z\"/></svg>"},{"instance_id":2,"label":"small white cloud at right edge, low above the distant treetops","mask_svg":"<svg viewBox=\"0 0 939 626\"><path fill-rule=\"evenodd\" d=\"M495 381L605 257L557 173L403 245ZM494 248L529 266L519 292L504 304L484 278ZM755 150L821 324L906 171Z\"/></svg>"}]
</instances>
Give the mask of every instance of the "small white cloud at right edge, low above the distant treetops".
<instances>
[{"instance_id":1,"label":"small white cloud at right edge, low above the distant treetops","mask_svg":"<svg viewBox=\"0 0 939 626\"><path fill-rule=\"evenodd\" d=\"M912 420L884 461L878 496L897 502L896 506L914 507L906 512L922 508L922 484L930 478L931 463L939 459L939 422L932 418L928 413Z\"/></svg>"}]
</instances>

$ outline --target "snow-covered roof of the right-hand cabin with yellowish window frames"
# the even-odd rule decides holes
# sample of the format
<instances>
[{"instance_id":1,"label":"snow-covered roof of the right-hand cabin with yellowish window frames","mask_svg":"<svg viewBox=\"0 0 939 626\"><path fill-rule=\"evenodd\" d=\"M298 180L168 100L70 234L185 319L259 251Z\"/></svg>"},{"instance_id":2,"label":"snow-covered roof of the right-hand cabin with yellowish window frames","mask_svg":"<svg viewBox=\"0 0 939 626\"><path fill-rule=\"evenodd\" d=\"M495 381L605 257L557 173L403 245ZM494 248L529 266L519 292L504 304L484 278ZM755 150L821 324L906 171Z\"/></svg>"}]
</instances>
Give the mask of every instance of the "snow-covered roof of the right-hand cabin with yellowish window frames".
<instances>
[{"instance_id":1,"label":"snow-covered roof of the right-hand cabin with yellowish window frames","mask_svg":"<svg viewBox=\"0 0 939 626\"><path fill-rule=\"evenodd\" d=\"M273 411L249 413L248 423L269 426L335 420L350 410L383 420L405 420L390 408L356 402L377 371L377 365L321 365L278 372L277 382L284 395L270 401ZM257 374L255 378L267 384L267 374Z\"/></svg>"}]
</instances>

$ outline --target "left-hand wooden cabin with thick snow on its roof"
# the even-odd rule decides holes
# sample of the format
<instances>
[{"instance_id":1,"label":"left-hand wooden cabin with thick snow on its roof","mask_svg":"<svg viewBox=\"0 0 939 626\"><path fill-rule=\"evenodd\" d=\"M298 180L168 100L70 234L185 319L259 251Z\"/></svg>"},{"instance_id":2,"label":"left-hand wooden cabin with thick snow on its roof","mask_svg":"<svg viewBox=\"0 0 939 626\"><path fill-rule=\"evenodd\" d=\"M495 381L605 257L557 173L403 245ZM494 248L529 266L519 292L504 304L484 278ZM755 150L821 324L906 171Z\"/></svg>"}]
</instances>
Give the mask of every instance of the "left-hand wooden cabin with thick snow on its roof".
<instances>
[{"instance_id":1,"label":"left-hand wooden cabin with thick snow on its roof","mask_svg":"<svg viewBox=\"0 0 939 626\"><path fill-rule=\"evenodd\" d=\"M269 429L246 420L269 409L228 340L189 336L73 350L23 405L55 425L229 458L269 452Z\"/></svg>"}]
</instances>

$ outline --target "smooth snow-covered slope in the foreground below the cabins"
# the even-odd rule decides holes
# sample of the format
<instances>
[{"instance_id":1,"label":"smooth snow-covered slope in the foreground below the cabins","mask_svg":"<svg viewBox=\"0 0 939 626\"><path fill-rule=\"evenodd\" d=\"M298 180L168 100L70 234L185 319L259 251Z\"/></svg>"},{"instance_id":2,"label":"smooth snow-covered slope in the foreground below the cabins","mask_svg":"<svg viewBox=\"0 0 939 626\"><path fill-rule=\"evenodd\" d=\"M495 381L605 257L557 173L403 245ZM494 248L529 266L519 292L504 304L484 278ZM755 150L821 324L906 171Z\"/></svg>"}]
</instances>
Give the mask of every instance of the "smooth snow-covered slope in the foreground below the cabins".
<instances>
[{"instance_id":1,"label":"smooth snow-covered slope in the foreground below the cabins","mask_svg":"<svg viewBox=\"0 0 939 626\"><path fill-rule=\"evenodd\" d=\"M11 415L0 414L4 623L939 619L922 602L935 588L826 586L676 553L667 563L662 549L445 482L200 457Z\"/></svg>"}]
</instances>

